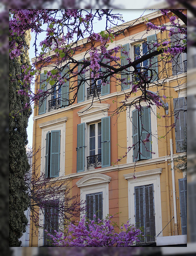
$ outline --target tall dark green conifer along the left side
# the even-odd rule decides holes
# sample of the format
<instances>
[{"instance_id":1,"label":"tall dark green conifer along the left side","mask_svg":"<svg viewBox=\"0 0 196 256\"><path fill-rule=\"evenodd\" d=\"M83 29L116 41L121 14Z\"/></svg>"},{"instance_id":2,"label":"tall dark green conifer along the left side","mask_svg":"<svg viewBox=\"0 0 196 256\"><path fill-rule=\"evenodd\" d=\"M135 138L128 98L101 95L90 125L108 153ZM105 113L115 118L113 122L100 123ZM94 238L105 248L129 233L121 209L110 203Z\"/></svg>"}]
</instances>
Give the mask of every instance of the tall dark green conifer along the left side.
<instances>
[{"instance_id":1,"label":"tall dark green conifer along the left side","mask_svg":"<svg viewBox=\"0 0 196 256\"><path fill-rule=\"evenodd\" d=\"M9 81L9 245L20 246L19 238L26 231L28 220L24 210L28 208L30 200L24 175L29 171L30 165L26 154L27 126L31 115L31 108L21 111L29 97L19 95L18 90L24 89L18 79L21 79L21 66L30 65L29 46L30 32L23 38L23 50L20 57L10 59ZM30 87L30 85L29 85ZM28 90L28 88L27 88Z\"/></svg>"}]
</instances>

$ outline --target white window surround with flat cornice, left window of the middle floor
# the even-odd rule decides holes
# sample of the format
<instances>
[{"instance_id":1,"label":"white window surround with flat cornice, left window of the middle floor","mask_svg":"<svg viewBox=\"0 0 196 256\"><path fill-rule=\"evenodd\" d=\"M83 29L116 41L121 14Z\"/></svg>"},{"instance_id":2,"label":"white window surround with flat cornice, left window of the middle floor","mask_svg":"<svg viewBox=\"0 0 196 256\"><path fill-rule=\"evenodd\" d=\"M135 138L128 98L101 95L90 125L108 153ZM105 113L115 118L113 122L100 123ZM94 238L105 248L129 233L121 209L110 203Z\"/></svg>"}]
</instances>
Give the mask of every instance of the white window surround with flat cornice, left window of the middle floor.
<instances>
[{"instance_id":1,"label":"white window surround with flat cornice, left window of the middle floor","mask_svg":"<svg viewBox=\"0 0 196 256\"><path fill-rule=\"evenodd\" d=\"M39 127L42 129L41 133L41 168L40 174L45 173L45 150L46 150L46 133L51 131L61 131L60 138L60 170L59 177L65 175L65 122L67 117L55 119L53 121L47 121L40 123ZM57 177L58 178L58 177ZM55 179L55 178L53 178Z\"/></svg>"}]
</instances>

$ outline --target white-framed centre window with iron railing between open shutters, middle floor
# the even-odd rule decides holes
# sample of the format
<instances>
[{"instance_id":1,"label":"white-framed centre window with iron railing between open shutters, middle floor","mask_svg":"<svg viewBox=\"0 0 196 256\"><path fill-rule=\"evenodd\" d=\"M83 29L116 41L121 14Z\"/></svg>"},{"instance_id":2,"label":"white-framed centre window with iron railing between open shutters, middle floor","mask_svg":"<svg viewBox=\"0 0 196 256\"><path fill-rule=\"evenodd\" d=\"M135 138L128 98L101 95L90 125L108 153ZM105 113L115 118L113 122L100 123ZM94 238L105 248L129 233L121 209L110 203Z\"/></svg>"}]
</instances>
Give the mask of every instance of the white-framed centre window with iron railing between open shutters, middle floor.
<instances>
[{"instance_id":1,"label":"white-framed centre window with iron railing between open shutters, middle floor","mask_svg":"<svg viewBox=\"0 0 196 256\"><path fill-rule=\"evenodd\" d=\"M90 166L96 167L102 164L101 126L101 122L89 125L89 156L87 156L87 169Z\"/></svg>"}]
</instances>

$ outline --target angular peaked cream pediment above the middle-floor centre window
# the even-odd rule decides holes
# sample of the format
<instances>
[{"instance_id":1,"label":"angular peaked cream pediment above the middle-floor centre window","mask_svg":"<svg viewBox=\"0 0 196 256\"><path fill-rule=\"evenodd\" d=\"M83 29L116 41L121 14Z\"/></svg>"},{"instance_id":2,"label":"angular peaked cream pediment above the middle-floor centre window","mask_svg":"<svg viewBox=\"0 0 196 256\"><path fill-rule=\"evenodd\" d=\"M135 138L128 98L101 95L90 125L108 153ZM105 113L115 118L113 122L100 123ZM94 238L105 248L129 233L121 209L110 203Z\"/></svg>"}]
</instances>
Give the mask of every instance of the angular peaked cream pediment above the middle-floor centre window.
<instances>
[{"instance_id":1,"label":"angular peaked cream pediment above the middle-floor centre window","mask_svg":"<svg viewBox=\"0 0 196 256\"><path fill-rule=\"evenodd\" d=\"M78 111L79 117L81 117L81 122L91 122L101 119L102 117L108 116L108 110L110 108L110 104L107 103L92 103L82 110Z\"/></svg>"}]
</instances>

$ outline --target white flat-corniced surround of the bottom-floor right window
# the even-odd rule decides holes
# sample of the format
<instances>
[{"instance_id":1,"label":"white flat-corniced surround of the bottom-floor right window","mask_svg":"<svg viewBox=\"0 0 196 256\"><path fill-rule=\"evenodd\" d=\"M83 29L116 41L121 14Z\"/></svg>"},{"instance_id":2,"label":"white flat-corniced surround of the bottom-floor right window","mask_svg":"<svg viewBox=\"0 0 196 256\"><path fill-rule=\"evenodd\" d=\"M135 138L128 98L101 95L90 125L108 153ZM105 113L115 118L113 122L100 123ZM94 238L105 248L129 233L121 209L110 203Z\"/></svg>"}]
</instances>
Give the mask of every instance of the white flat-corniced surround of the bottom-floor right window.
<instances>
[{"instance_id":1,"label":"white flat-corniced surround of the bottom-floor right window","mask_svg":"<svg viewBox=\"0 0 196 256\"><path fill-rule=\"evenodd\" d=\"M154 207L155 207L155 236L162 230L162 212L161 212L161 190L160 190L160 174L162 168L153 170L145 170L136 172L134 175L125 174L124 178L128 180L128 202L129 202L129 220L131 224L135 224L135 196L134 187L153 184L154 186ZM133 176L136 177L133 178ZM162 236L162 232L159 237Z\"/></svg>"}]
</instances>

